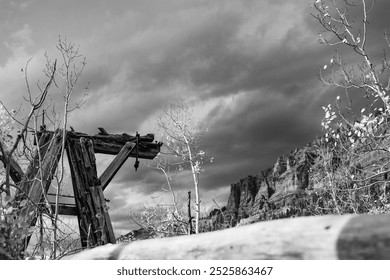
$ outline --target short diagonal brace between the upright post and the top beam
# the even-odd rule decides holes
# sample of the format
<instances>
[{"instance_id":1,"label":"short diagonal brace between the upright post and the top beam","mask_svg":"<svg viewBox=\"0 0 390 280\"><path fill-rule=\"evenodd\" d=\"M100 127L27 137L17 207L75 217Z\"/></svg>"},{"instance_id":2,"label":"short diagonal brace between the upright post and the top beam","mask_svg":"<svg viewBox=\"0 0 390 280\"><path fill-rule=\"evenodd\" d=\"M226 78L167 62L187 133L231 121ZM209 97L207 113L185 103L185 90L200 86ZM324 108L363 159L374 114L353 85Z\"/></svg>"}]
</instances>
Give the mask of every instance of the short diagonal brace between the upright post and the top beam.
<instances>
[{"instance_id":1,"label":"short diagonal brace between the upright post and the top beam","mask_svg":"<svg viewBox=\"0 0 390 280\"><path fill-rule=\"evenodd\" d=\"M132 152L135 146L135 143L127 142L117 154L117 156L113 159L113 161L110 163L110 165L106 168L106 170L104 170L104 172L99 178L103 191L111 182L112 178L114 178L118 170L125 163L125 161L129 157L129 154Z\"/></svg>"}]
</instances>

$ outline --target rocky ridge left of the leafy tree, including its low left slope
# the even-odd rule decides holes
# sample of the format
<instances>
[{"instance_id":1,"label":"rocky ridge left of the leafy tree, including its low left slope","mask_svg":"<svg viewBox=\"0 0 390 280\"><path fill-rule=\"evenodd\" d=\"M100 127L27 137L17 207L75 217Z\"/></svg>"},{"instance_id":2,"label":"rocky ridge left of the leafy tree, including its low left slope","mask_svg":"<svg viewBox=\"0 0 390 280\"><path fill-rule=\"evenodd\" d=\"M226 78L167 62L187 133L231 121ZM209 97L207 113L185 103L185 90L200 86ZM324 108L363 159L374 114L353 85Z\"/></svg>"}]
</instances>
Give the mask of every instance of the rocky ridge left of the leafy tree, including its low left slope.
<instances>
[{"instance_id":1,"label":"rocky ridge left of the leafy tree, including its low left slope","mask_svg":"<svg viewBox=\"0 0 390 280\"><path fill-rule=\"evenodd\" d=\"M323 174L315 167L319 141L282 155L272 167L231 184L226 207L210 213L214 228L313 214L305 206L316 199L313 192L323 188Z\"/></svg>"}]
</instances>

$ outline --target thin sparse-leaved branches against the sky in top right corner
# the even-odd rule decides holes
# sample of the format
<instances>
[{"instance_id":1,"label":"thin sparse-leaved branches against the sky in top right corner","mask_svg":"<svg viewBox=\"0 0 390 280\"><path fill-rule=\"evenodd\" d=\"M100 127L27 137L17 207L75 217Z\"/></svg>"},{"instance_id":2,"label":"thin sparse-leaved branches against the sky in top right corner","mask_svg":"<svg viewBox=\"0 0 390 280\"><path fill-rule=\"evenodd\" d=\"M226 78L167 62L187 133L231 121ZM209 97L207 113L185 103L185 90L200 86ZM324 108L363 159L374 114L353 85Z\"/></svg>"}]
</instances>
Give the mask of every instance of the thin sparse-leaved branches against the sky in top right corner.
<instances>
[{"instance_id":1,"label":"thin sparse-leaved branches against the sky in top right corner","mask_svg":"<svg viewBox=\"0 0 390 280\"><path fill-rule=\"evenodd\" d=\"M373 11L374 1L317 0L314 8L317 11L314 17L323 27L320 43L338 48L329 65L321 70L321 80L326 85L346 90L359 89L381 101L385 111L389 112L389 61L386 55L378 59L377 54L368 51L368 16ZM358 19L352 18L351 9L360 11ZM390 46L387 35L385 39ZM354 54L352 63L346 63L340 53L341 47Z\"/></svg>"}]
</instances>

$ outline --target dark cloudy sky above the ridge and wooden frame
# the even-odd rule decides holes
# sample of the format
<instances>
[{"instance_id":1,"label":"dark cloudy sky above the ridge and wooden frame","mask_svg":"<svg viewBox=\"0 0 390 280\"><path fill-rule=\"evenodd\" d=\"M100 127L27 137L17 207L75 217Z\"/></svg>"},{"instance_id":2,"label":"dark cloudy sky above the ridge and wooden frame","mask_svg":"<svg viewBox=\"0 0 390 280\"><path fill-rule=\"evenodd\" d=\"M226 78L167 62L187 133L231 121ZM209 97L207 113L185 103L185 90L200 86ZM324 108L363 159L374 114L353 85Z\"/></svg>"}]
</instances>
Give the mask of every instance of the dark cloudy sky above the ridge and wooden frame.
<instances>
[{"instance_id":1,"label":"dark cloudy sky above the ridge and wooden frame","mask_svg":"<svg viewBox=\"0 0 390 280\"><path fill-rule=\"evenodd\" d=\"M76 131L160 134L156 115L178 96L207 123L203 150L214 158L200 178L203 214L226 205L230 185L256 175L278 156L322 134L322 106L337 88L317 75L335 47L318 43L319 23L309 0L0 0L0 99L27 108L24 73L45 81L45 56L58 57L58 38L80 48L87 64L75 100L89 84L86 103L73 111ZM379 57L390 29L390 2L369 15L368 50ZM361 16L356 13L357 19ZM346 53L348 57L348 52ZM349 61L353 61L353 57ZM58 103L61 99L54 98ZM27 109L24 109L27 112ZM113 159L97 155L98 172ZM169 203L164 177L129 159L106 189L117 233L131 227L141 205ZM174 188L185 206L192 190L184 172ZM192 190L193 191L193 190Z\"/></svg>"}]
</instances>

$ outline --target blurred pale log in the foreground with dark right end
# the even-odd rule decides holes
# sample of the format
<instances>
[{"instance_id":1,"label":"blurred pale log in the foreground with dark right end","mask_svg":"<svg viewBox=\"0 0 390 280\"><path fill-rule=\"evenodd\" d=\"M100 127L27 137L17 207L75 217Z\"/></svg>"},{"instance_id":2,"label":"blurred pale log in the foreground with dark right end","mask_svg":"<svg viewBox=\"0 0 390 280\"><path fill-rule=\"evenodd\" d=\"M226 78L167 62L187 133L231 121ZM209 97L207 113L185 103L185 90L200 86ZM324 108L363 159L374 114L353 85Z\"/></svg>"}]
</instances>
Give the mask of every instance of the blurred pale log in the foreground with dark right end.
<instances>
[{"instance_id":1,"label":"blurred pale log in the foreground with dark right end","mask_svg":"<svg viewBox=\"0 0 390 280\"><path fill-rule=\"evenodd\" d=\"M390 214L280 219L198 235L108 244L62 259L390 259Z\"/></svg>"}]
</instances>

